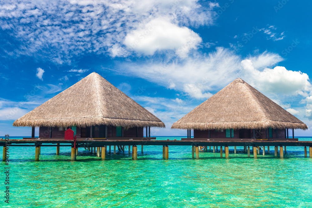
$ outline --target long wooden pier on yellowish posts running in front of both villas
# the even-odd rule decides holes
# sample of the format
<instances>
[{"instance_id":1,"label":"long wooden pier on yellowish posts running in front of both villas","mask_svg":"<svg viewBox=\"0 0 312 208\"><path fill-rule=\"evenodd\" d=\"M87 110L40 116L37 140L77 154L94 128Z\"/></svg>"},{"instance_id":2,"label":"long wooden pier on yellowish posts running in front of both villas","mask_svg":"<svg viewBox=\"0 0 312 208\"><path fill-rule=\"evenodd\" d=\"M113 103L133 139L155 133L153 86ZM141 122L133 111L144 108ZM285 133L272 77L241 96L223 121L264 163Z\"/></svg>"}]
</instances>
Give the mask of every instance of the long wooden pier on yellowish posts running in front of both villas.
<instances>
[{"instance_id":1,"label":"long wooden pier on yellowish posts running in front of both villas","mask_svg":"<svg viewBox=\"0 0 312 208\"><path fill-rule=\"evenodd\" d=\"M217 141L216 141L217 140ZM156 140L156 138L123 138L123 139L91 139L91 138L77 138L76 145L72 140L64 140L63 138L25 138L25 139L10 139L8 141L0 140L0 146L3 147L3 155L2 159L6 158L6 145L8 147L35 147L35 161L39 161L40 148L41 147L56 147L56 155L59 154L60 147L71 147L71 160L76 160L77 156L77 148L85 148L89 149L93 153L95 153L95 148L97 148L97 157L101 159L105 159L106 147L114 146L114 154L116 154L116 146L121 147L124 151L124 146L129 147L132 146L132 159L137 159L137 146L141 145L141 151L143 153L144 145L152 145L152 146L162 146L163 147L163 158L169 158L169 146L190 146L190 152L192 152L192 157L199 159L199 146L205 147L207 151L207 147L209 149L211 146L213 147L213 152L215 153L215 149L220 147L220 157L223 157L223 148L225 158L229 158L229 147L234 147L234 153L236 152L236 147L244 147L244 153L248 154L250 157L250 147L253 149L253 157L257 158L257 155L260 153L260 147L263 147L263 155L265 155L265 146L267 146L267 150L269 151L270 146L274 146L275 148L275 156L278 154L278 147L280 148L280 158L284 157L284 150L286 152L286 147L304 147L305 157L307 157L307 147L309 147L309 156L312 158L312 141L268 141L268 140L252 140L248 139L247 141L220 141L220 139L210 138L209 140L191 140L188 138L187 140ZM76 149L74 148L76 147ZM216 148L215 148L216 147ZM269 152L268 152L269 153Z\"/></svg>"}]
</instances>

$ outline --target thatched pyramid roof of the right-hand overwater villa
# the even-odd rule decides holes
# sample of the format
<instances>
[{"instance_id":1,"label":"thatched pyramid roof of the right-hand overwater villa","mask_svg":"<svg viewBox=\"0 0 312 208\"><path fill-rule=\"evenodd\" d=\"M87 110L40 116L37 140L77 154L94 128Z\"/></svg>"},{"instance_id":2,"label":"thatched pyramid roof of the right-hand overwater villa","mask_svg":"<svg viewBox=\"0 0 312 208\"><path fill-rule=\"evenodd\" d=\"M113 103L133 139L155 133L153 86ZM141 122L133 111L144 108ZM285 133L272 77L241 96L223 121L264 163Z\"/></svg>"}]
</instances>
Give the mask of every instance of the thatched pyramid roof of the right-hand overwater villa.
<instances>
[{"instance_id":1,"label":"thatched pyramid roof of the right-hand overwater villa","mask_svg":"<svg viewBox=\"0 0 312 208\"><path fill-rule=\"evenodd\" d=\"M237 78L173 123L171 128L307 129L307 126L244 80Z\"/></svg>"}]
</instances>

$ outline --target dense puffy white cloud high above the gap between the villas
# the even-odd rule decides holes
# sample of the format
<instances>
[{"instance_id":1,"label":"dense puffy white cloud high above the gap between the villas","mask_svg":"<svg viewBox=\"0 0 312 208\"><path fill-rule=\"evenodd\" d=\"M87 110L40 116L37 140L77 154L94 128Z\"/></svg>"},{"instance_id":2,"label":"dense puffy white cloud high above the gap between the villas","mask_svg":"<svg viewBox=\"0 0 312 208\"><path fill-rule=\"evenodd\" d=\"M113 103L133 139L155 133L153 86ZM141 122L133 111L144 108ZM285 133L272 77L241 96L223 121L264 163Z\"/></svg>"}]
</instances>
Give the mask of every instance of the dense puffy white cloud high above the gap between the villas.
<instances>
[{"instance_id":1,"label":"dense puffy white cloud high above the gap between the villas","mask_svg":"<svg viewBox=\"0 0 312 208\"><path fill-rule=\"evenodd\" d=\"M145 55L158 50L174 50L180 57L186 57L191 49L197 49L201 37L187 27L179 27L165 18L153 19L136 30L130 31L124 44Z\"/></svg>"}]
</instances>

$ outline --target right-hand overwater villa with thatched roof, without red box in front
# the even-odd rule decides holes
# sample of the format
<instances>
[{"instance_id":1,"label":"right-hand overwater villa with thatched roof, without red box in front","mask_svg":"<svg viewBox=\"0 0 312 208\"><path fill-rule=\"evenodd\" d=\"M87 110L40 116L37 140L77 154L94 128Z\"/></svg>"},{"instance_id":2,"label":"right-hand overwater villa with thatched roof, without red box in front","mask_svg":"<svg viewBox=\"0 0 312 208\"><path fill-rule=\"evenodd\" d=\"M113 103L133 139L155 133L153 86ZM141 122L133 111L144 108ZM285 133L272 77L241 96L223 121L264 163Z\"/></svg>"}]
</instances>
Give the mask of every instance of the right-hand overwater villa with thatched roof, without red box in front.
<instances>
[{"instance_id":1,"label":"right-hand overwater villa with thatched roof, without red box in front","mask_svg":"<svg viewBox=\"0 0 312 208\"><path fill-rule=\"evenodd\" d=\"M307 126L237 78L171 128L193 129L194 138L286 140L288 128L307 129Z\"/></svg>"}]
</instances>

